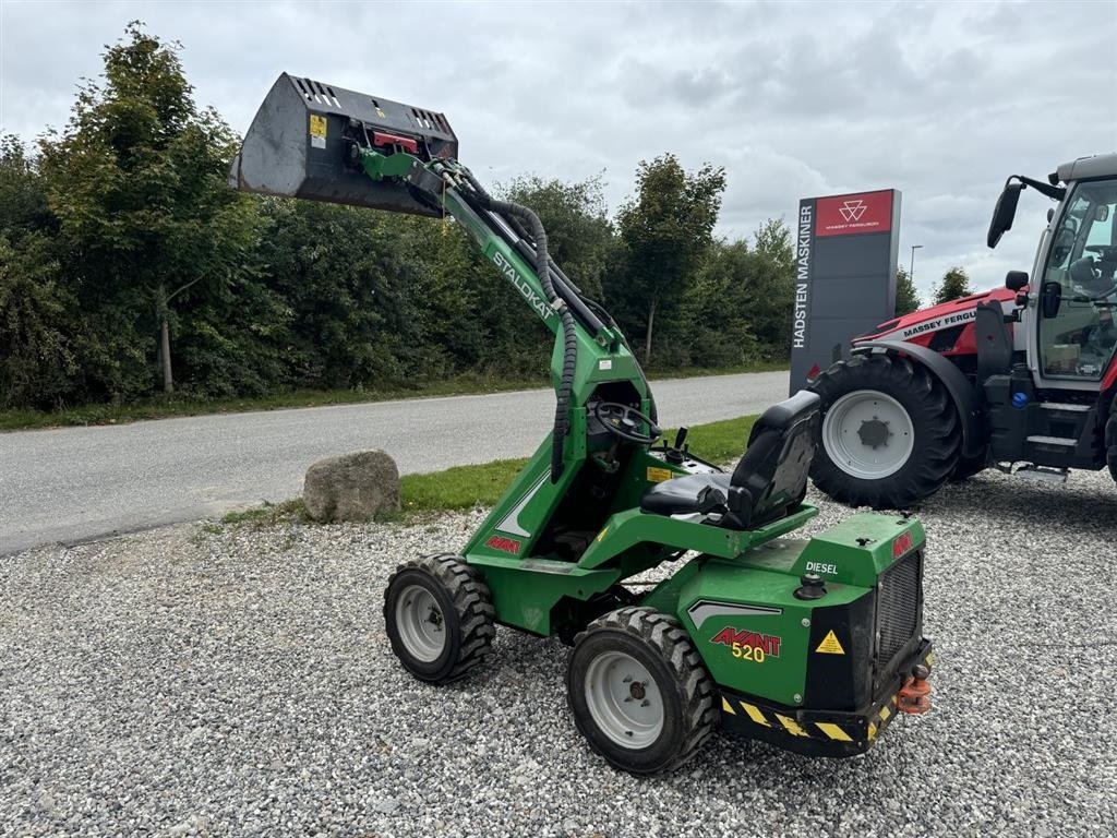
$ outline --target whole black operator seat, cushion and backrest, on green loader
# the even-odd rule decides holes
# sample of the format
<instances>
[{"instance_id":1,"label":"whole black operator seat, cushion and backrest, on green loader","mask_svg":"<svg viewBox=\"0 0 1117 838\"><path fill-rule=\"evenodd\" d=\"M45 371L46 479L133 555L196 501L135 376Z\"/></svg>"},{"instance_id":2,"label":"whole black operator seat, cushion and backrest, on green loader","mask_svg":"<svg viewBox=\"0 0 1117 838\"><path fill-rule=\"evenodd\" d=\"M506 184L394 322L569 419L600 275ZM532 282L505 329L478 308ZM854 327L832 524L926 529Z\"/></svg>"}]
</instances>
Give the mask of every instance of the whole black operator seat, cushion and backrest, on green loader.
<instances>
[{"instance_id":1,"label":"whole black operator seat, cushion and backrest, on green loader","mask_svg":"<svg viewBox=\"0 0 1117 838\"><path fill-rule=\"evenodd\" d=\"M747 530L784 517L806 494L814 458L819 397L800 390L753 426L733 474L696 474L657 483L640 501L656 515L722 513L722 525Z\"/></svg>"}]
</instances>

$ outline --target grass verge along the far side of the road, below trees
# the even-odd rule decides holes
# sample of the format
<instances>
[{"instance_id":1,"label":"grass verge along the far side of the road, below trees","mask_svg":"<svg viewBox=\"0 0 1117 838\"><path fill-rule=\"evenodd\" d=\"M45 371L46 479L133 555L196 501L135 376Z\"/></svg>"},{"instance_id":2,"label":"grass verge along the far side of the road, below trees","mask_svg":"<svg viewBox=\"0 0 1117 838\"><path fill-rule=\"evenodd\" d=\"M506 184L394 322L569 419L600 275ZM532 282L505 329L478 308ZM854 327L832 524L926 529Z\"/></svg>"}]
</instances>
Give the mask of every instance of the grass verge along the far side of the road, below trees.
<instances>
[{"instance_id":1,"label":"grass verge along the far side of the road, below trees","mask_svg":"<svg viewBox=\"0 0 1117 838\"><path fill-rule=\"evenodd\" d=\"M679 379L708 375L732 375L742 372L777 372L787 369L786 361L762 361L741 366L717 369L685 368L680 370L652 370L649 378ZM422 399L438 396L468 396L509 390L546 387L548 379L498 378L467 373L442 381L431 381L413 388L384 388L378 390L296 390L239 399L190 399L182 396L152 397L130 404L85 404L61 410L0 410L0 431L57 428L84 425L124 425L144 419L168 419L176 416L207 413L241 413L250 410L279 410L284 408L316 408L327 404L356 404L393 399Z\"/></svg>"}]
</instances>

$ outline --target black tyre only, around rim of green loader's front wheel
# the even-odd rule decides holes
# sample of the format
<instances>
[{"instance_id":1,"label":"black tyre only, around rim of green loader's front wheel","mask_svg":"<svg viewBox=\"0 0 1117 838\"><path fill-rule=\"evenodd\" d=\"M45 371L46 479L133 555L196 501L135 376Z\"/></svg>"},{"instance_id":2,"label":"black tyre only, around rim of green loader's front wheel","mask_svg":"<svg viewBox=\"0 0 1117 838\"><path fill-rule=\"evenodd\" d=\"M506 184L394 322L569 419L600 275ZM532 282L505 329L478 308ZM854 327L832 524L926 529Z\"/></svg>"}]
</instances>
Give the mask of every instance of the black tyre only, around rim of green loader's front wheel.
<instances>
[{"instance_id":1,"label":"black tyre only, around rim of green loader's front wheel","mask_svg":"<svg viewBox=\"0 0 1117 838\"><path fill-rule=\"evenodd\" d=\"M412 584L435 596L446 620L448 641L431 663L412 657L395 627L395 599ZM491 596L481 574L457 555L426 555L401 564L384 589L384 625L392 651L408 672L430 684L458 680L484 663L496 637L493 618Z\"/></svg>"}]
</instances>

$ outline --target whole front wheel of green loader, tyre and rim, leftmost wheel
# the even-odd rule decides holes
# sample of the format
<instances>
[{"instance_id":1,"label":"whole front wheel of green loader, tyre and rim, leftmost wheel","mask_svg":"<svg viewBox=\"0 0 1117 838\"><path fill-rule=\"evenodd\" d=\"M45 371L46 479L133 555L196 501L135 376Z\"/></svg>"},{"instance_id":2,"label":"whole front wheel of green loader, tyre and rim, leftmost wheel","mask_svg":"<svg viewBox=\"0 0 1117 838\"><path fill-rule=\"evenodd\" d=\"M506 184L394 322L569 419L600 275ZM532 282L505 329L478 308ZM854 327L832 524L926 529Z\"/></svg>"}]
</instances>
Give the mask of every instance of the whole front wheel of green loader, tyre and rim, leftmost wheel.
<instances>
[{"instance_id":1,"label":"whole front wheel of green loader, tyre and rim, leftmost wheel","mask_svg":"<svg viewBox=\"0 0 1117 838\"><path fill-rule=\"evenodd\" d=\"M496 629L480 573L456 555L401 564L384 591L392 651L420 680L449 684L479 666Z\"/></svg>"}]
</instances>

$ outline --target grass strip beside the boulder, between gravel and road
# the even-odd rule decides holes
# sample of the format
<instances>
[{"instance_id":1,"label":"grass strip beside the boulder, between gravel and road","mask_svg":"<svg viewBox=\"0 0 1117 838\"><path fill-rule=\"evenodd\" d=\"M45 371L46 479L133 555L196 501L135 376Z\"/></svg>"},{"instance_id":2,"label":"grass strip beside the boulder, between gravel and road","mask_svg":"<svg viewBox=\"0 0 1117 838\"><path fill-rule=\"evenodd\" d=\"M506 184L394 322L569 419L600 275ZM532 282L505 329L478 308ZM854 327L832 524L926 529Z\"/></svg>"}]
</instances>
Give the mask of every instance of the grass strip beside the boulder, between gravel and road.
<instances>
[{"instance_id":1,"label":"grass strip beside the boulder, between gravel and road","mask_svg":"<svg viewBox=\"0 0 1117 838\"><path fill-rule=\"evenodd\" d=\"M697 456L710 463L736 460L745 450L755 416L725 419L690 427L687 444ZM672 440L675 429L663 434ZM493 506L527 463L522 459L498 459L479 466L454 466L441 472L409 474L400 478L401 520L424 513L471 510ZM222 524L271 526L283 522L308 522L302 498L280 504L265 504L242 512L230 512Z\"/></svg>"}]
</instances>

